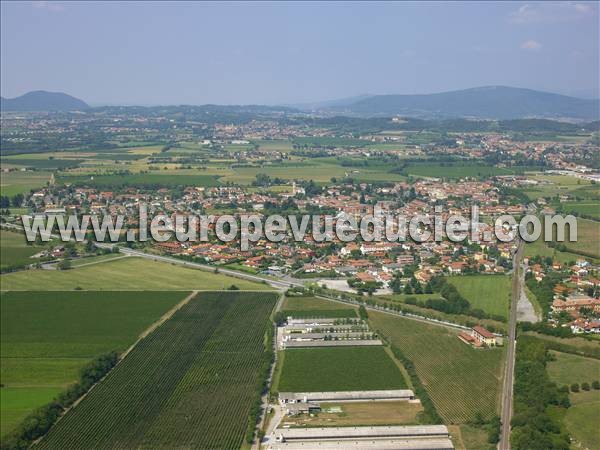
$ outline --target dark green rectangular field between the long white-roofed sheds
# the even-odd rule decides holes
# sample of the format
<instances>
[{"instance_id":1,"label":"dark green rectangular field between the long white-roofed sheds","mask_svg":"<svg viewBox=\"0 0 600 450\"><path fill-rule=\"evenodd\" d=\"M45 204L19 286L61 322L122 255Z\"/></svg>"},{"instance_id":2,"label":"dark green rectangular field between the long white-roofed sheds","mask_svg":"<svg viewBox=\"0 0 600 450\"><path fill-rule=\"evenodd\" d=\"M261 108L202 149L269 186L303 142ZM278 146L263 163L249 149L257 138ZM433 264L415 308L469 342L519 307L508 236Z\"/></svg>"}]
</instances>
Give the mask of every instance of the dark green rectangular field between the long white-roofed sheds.
<instances>
[{"instance_id":1,"label":"dark green rectangular field between the long white-roofed sheds","mask_svg":"<svg viewBox=\"0 0 600 450\"><path fill-rule=\"evenodd\" d=\"M285 350L279 392L406 389L406 381L383 347Z\"/></svg>"}]
</instances>

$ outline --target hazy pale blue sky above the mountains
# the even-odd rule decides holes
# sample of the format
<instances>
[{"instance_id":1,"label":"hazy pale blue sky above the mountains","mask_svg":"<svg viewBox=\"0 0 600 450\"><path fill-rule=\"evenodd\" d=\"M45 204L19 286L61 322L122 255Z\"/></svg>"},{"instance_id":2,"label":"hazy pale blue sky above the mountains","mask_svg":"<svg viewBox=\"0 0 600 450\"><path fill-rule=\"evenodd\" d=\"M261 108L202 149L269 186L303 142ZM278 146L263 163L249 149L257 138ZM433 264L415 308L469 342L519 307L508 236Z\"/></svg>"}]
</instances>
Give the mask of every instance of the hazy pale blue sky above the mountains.
<instances>
[{"instance_id":1,"label":"hazy pale blue sky above the mountains","mask_svg":"<svg viewBox=\"0 0 600 450\"><path fill-rule=\"evenodd\" d=\"M488 85L598 97L598 2L0 5L9 98L298 104Z\"/></svg>"}]
</instances>

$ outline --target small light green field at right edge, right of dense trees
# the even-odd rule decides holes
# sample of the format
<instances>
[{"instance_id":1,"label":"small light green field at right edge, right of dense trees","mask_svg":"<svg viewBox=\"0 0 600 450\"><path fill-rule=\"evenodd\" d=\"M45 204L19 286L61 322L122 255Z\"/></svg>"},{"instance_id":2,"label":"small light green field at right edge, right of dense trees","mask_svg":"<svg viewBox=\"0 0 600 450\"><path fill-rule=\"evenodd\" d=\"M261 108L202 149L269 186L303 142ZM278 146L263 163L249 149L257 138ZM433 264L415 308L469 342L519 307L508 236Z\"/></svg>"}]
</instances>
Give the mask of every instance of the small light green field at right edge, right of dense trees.
<instances>
[{"instance_id":1,"label":"small light green field at right edge, right of dense trees","mask_svg":"<svg viewBox=\"0 0 600 450\"><path fill-rule=\"evenodd\" d=\"M559 386L600 381L600 359L555 351L551 353L556 360L550 361L546 369L550 378Z\"/></svg>"}]
</instances>

